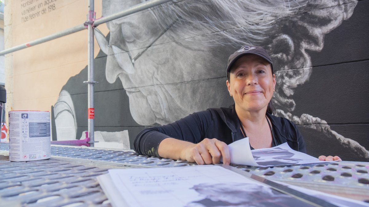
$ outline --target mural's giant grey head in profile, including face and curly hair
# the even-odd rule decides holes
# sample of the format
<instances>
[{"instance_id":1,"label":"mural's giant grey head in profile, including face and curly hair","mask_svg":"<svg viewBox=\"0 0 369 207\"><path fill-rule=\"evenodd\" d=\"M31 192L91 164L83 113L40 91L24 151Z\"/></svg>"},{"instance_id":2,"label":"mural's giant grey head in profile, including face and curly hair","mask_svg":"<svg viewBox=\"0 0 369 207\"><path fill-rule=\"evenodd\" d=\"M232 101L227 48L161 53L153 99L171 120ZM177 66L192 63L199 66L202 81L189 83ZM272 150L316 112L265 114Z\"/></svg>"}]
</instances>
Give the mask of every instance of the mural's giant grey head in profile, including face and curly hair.
<instances>
[{"instance_id":1,"label":"mural's giant grey head in profile, including face and curly hair","mask_svg":"<svg viewBox=\"0 0 369 207\"><path fill-rule=\"evenodd\" d=\"M352 15L356 1L350 2L172 1L107 23L108 41L96 35L108 55L106 78L120 78L141 125L230 105L224 69L231 51L244 44L269 51L277 81L273 102L283 115L295 108L294 88L310 77L306 50L323 48L324 35ZM103 15L138 3L104 0Z\"/></svg>"}]
</instances>

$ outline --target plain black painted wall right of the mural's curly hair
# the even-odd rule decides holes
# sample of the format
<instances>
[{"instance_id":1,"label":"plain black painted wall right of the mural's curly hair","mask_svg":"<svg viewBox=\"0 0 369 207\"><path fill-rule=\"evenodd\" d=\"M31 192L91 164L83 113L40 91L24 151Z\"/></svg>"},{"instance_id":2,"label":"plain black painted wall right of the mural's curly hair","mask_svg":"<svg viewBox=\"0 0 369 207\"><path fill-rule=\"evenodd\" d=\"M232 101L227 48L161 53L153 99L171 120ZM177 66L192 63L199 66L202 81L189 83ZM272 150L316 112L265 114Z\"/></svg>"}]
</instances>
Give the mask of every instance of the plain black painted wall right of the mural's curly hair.
<instances>
[{"instance_id":1,"label":"plain black painted wall right of the mural's curly hair","mask_svg":"<svg viewBox=\"0 0 369 207\"><path fill-rule=\"evenodd\" d=\"M337 133L326 136L309 126L300 127L311 155L327 151L345 160L369 161L363 156L369 150L368 8L368 0L358 1L349 20L325 35L323 49L308 52L313 72L294 94L294 113L319 117ZM365 150L350 146L353 141L342 137Z\"/></svg>"}]
</instances>

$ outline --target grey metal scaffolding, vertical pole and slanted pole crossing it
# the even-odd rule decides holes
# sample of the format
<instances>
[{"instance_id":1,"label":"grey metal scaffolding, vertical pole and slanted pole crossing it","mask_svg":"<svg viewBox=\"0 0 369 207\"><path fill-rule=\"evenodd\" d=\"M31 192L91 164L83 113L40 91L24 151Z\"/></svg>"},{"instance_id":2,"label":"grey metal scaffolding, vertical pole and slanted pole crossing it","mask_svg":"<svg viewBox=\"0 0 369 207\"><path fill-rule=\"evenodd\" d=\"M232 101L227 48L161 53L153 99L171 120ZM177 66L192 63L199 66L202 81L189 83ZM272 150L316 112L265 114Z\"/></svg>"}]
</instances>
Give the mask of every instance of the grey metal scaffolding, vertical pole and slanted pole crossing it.
<instances>
[{"instance_id":1,"label":"grey metal scaffolding, vertical pole and slanted pole crossing it","mask_svg":"<svg viewBox=\"0 0 369 207\"><path fill-rule=\"evenodd\" d=\"M76 27L72 27L66 30L63 30L61 32L49 35L49 36L45 36L43 38L39 38L36 39L34 41L28 42L28 43L24 43L22 45L18 45L15 46L13 48L9 48L6 50L3 50L0 52L0 56L1 55L6 55L8 53L12 53L21 49L25 49L25 48L29 48L31 46L35 46L44 42L48 42L57 38L60 38L62 36L66 36L69 34L73 34L75 32L79 32L82 31L83 29L87 29L87 33L88 33L88 57L87 57L87 70L88 70L88 79L87 81L83 81L83 83L87 83L88 87L87 87L87 99L88 99L88 103L87 103L87 120L88 120L88 137L86 137L86 140L88 140L87 142L89 143L89 145L91 147L94 147L94 84L96 84L97 82L94 81L94 27L97 27L100 24L104 24L106 22L130 15L130 14L134 14L137 13L139 11L151 8L151 7L155 7L158 6L160 4L169 2L172 0L149 0L146 1L144 3L141 4L137 4L135 6L132 6L130 8L127 8L126 10L123 10L119 13L116 14L112 14L109 15L107 17L101 17L98 20L95 19L95 12L94 12L94 0L88 0L88 5L89 5L89 13L87 14L87 21L81 25L78 25ZM86 27L87 25L87 27ZM79 140L75 140L75 141L79 141ZM55 144L58 141L55 141ZM70 142L73 142L73 140L71 140ZM73 143L71 143L73 144ZM75 143L76 145L78 145L77 143Z\"/></svg>"}]
</instances>

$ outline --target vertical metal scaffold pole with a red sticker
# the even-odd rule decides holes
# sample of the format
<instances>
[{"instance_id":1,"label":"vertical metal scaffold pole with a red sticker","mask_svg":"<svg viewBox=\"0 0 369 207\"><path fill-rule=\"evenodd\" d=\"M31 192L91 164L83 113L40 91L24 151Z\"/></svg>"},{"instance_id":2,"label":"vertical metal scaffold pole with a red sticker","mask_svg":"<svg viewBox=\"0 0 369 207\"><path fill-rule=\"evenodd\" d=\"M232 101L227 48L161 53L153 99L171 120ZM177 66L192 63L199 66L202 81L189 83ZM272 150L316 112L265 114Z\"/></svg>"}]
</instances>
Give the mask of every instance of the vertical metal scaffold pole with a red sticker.
<instances>
[{"instance_id":1,"label":"vertical metal scaffold pole with a red sticker","mask_svg":"<svg viewBox=\"0 0 369 207\"><path fill-rule=\"evenodd\" d=\"M93 21L94 21L94 0L89 0L89 14L87 20L87 30L88 30L88 94L87 94L87 116L88 116L88 131L90 138L90 147L94 147L95 137L94 137L94 29L93 29Z\"/></svg>"}]
</instances>

